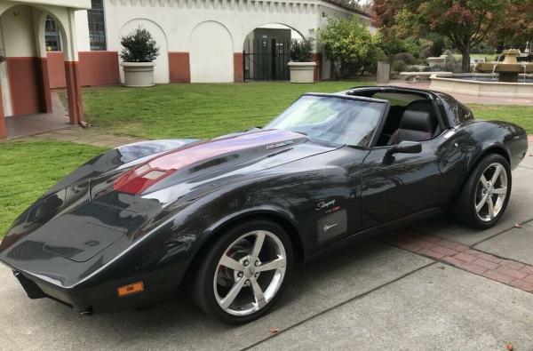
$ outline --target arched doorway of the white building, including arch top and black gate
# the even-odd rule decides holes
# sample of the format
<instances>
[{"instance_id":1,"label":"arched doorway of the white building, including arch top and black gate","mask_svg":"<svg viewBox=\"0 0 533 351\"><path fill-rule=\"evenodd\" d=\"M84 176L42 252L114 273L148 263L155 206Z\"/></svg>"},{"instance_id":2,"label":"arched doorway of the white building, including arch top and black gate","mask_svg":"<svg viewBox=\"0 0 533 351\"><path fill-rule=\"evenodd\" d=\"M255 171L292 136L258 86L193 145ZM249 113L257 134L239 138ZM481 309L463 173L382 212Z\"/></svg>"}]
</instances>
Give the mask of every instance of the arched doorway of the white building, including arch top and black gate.
<instances>
[{"instance_id":1,"label":"arched doorway of the white building, including arch top and black gate","mask_svg":"<svg viewBox=\"0 0 533 351\"><path fill-rule=\"evenodd\" d=\"M253 29L243 44L244 80L289 80L290 43L303 38L296 29L279 23Z\"/></svg>"}]
</instances>

